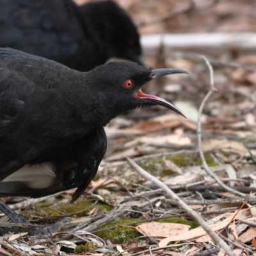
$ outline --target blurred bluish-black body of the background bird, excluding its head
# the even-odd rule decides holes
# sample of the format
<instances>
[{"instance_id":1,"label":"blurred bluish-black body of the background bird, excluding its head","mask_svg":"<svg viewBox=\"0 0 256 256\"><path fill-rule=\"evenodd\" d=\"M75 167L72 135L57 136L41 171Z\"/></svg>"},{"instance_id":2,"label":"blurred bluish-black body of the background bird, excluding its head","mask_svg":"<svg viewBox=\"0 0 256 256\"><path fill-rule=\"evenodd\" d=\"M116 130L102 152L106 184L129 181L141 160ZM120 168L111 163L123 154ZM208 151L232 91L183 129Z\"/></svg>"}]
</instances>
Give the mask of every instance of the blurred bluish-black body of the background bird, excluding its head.
<instances>
[{"instance_id":1,"label":"blurred bluish-black body of the background bird, excluding its head","mask_svg":"<svg viewBox=\"0 0 256 256\"><path fill-rule=\"evenodd\" d=\"M84 47L77 14L79 9L71 0L0 0L0 47L77 69Z\"/></svg>"}]
</instances>

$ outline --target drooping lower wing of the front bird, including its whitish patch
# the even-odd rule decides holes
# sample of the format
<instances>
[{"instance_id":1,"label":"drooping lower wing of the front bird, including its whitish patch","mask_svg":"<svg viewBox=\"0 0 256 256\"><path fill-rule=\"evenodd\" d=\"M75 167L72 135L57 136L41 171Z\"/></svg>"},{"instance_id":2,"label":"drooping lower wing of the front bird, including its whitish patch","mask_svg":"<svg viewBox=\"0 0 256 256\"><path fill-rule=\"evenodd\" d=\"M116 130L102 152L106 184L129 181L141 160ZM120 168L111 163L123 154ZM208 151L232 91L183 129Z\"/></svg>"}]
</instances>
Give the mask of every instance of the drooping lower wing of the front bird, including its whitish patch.
<instances>
[{"instance_id":1,"label":"drooping lower wing of the front bird, including its whitish patch","mask_svg":"<svg viewBox=\"0 0 256 256\"><path fill-rule=\"evenodd\" d=\"M39 170L38 166L37 170L33 170L35 166L26 166L26 169L19 170L0 182L0 196L41 197L78 187L72 196L74 202L95 177L106 152L106 145L106 133L99 125L88 136L79 140L67 156L67 161L76 165L73 168L74 175L70 175L71 170L66 173L52 172L56 170L56 164L53 163L44 165L44 170Z\"/></svg>"}]
</instances>

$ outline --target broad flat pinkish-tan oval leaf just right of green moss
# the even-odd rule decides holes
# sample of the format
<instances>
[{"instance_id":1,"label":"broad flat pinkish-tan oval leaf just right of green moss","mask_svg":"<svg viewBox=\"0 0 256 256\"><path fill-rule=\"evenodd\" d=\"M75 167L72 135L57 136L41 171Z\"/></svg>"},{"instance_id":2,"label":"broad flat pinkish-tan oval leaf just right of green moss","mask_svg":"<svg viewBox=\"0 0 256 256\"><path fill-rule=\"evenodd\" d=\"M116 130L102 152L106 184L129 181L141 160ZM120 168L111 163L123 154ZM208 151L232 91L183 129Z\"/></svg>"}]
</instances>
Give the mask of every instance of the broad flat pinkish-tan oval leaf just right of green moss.
<instances>
[{"instance_id":1,"label":"broad flat pinkish-tan oval leaf just right of green moss","mask_svg":"<svg viewBox=\"0 0 256 256\"><path fill-rule=\"evenodd\" d=\"M149 237L178 236L188 232L189 225L179 223L148 222L135 227L138 232Z\"/></svg>"}]
</instances>

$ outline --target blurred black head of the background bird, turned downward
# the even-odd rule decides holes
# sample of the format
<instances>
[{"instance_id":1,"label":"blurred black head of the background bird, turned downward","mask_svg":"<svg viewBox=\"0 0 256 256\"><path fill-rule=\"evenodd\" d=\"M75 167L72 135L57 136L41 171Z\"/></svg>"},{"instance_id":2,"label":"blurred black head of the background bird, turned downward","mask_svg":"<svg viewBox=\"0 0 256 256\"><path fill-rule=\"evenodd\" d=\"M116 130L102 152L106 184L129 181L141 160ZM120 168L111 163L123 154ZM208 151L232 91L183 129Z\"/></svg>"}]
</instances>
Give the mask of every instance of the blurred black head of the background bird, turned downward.
<instances>
[{"instance_id":1,"label":"blurred black head of the background bird, turned downward","mask_svg":"<svg viewBox=\"0 0 256 256\"><path fill-rule=\"evenodd\" d=\"M129 15L118 4L113 1L95 1L79 8L90 24L90 29L98 31L97 41L104 42L100 49L107 47L106 60L119 58L144 65L140 35Z\"/></svg>"}]
</instances>

